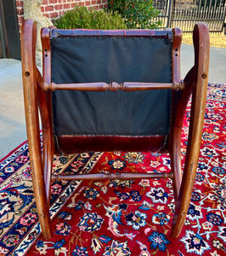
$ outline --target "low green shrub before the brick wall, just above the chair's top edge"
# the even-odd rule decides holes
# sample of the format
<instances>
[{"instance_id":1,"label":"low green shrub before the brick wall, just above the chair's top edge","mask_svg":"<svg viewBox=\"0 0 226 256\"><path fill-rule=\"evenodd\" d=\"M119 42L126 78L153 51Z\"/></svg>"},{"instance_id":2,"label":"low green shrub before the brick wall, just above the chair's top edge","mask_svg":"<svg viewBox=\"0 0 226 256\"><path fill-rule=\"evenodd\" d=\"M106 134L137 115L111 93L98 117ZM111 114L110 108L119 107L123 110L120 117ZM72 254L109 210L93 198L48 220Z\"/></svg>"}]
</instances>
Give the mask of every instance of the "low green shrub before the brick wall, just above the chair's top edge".
<instances>
[{"instance_id":1,"label":"low green shrub before the brick wall, just above the chair's top edge","mask_svg":"<svg viewBox=\"0 0 226 256\"><path fill-rule=\"evenodd\" d=\"M76 6L53 20L57 28L126 29L124 20L117 12L105 12Z\"/></svg>"}]
</instances>

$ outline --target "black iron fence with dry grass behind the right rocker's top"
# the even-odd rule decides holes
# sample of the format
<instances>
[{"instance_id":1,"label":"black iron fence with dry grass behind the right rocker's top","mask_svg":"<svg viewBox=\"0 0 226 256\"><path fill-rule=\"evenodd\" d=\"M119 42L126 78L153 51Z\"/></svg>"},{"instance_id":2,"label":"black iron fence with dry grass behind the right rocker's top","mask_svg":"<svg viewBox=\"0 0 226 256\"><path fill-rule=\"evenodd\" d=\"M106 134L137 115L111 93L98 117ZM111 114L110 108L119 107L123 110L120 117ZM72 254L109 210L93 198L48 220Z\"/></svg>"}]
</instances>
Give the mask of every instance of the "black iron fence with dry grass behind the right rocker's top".
<instances>
[{"instance_id":1,"label":"black iron fence with dry grass behind the right rocker's top","mask_svg":"<svg viewBox=\"0 0 226 256\"><path fill-rule=\"evenodd\" d=\"M179 26L192 32L195 23L205 22L210 32L223 32L226 22L225 0L153 0L161 14L162 28Z\"/></svg>"}]
</instances>

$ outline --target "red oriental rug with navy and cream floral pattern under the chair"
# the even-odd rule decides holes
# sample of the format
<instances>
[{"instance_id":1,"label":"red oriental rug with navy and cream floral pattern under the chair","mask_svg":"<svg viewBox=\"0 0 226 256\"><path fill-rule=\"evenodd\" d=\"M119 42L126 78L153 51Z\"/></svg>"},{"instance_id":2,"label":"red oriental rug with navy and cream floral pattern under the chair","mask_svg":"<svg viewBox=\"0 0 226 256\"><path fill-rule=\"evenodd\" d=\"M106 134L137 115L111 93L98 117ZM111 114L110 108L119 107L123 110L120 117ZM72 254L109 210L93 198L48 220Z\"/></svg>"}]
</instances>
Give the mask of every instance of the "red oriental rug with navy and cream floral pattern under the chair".
<instances>
[{"instance_id":1,"label":"red oriental rug with navy and cream floral pattern under the chair","mask_svg":"<svg viewBox=\"0 0 226 256\"><path fill-rule=\"evenodd\" d=\"M27 144L0 162L0 255L225 255L226 84L209 84L195 189L184 229L170 236L171 180L54 182L53 238L37 221ZM182 160L188 134L184 118ZM58 156L54 172L163 172L168 154L134 152Z\"/></svg>"}]
</instances>

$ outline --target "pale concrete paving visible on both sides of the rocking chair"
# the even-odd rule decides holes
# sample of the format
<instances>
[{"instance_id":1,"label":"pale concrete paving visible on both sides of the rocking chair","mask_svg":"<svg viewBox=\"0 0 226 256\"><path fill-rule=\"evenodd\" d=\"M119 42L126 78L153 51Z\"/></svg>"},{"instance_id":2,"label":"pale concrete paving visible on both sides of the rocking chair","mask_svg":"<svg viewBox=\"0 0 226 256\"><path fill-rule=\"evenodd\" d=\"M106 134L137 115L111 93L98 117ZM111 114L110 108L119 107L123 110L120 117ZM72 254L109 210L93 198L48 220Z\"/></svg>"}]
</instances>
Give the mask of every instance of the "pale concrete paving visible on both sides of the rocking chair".
<instances>
[{"instance_id":1,"label":"pale concrete paving visible on both sides of the rocking chair","mask_svg":"<svg viewBox=\"0 0 226 256\"><path fill-rule=\"evenodd\" d=\"M182 44L181 77L194 64L192 45ZM0 160L26 140L21 62L0 59ZM211 48L209 81L226 83L226 49Z\"/></svg>"}]
</instances>

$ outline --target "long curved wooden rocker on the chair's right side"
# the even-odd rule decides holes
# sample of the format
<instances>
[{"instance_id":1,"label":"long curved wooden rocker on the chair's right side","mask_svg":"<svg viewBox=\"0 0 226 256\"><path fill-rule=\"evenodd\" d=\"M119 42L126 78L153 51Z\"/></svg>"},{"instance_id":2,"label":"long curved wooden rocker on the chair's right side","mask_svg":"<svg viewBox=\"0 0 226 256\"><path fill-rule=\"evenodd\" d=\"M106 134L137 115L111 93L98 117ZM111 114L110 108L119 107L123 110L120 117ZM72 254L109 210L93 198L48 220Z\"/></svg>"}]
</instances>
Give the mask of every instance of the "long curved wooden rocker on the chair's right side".
<instances>
[{"instance_id":1,"label":"long curved wooden rocker on the chair's right side","mask_svg":"<svg viewBox=\"0 0 226 256\"><path fill-rule=\"evenodd\" d=\"M194 84L190 111L189 139L181 189L176 200L175 214L172 219L172 237L179 236L186 218L198 164L201 136L206 105L206 92L209 67L209 32L204 23L195 25L193 32L195 46Z\"/></svg>"}]
</instances>

